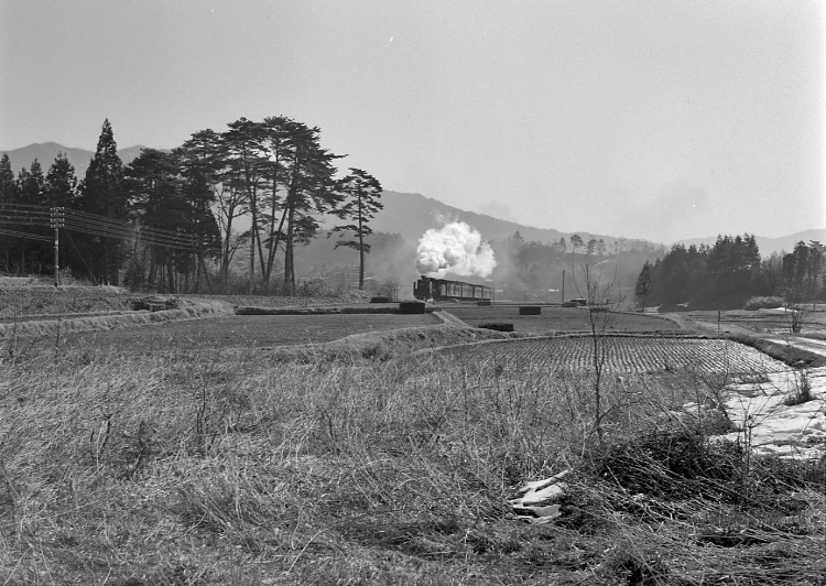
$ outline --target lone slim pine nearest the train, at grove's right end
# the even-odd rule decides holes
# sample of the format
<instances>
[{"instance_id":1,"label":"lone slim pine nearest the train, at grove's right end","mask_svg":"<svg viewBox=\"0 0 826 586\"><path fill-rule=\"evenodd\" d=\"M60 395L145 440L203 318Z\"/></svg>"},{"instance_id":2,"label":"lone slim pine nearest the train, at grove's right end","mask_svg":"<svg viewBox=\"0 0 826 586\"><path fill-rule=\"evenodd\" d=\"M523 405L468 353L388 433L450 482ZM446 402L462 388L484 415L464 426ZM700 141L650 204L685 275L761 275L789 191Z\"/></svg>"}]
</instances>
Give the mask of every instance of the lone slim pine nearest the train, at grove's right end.
<instances>
[{"instance_id":1,"label":"lone slim pine nearest the train, at grove's right end","mask_svg":"<svg viewBox=\"0 0 826 586\"><path fill-rule=\"evenodd\" d=\"M344 195L345 204L334 211L340 219L349 220L351 224L335 226L332 234L340 234L335 248L349 247L359 252L359 289L365 289L365 254L370 252L370 245L365 238L371 235L370 220L384 206L379 202L381 197L381 183L360 169L350 167L350 173L339 181L338 189ZM352 239L347 240L348 234Z\"/></svg>"}]
</instances>

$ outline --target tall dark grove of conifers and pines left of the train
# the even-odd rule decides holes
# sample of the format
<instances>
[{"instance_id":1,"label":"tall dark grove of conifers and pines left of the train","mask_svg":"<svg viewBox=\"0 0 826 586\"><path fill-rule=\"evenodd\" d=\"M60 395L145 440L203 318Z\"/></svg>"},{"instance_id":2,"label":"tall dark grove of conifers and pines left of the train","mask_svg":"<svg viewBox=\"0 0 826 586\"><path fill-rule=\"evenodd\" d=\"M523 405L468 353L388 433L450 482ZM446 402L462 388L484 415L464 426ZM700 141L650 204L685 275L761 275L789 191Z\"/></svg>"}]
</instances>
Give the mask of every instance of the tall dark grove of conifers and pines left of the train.
<instances>
[{"instance_id":1,"label":"tall dark grove of conifers and pines left of the train","mask_svg":"<svg viewBox=\"0 0 826 586\"><path fill-rule=\"evenodd\" d=\"M8 155L0 159L0 264L7 272L48 272L50 227L35 221L37 209L64 208L62 268L95 283L197 291L202 283L211 287L211 274L226 287L236 253L246 249L248 291L294 294L295 247L333 216L341 223L328 235L337 236L336 248L359 253L363 287L366 238L382 209L382 188L363 170L339 176L335 162L344 156L320 145L317 127L278 116L198 131L172 151L143 149L123 165L106 120L83 180L65 154L45 174L35 160L17 177ZM130 237L129 226L148 236Z\"/></svg>"}]
</instances>

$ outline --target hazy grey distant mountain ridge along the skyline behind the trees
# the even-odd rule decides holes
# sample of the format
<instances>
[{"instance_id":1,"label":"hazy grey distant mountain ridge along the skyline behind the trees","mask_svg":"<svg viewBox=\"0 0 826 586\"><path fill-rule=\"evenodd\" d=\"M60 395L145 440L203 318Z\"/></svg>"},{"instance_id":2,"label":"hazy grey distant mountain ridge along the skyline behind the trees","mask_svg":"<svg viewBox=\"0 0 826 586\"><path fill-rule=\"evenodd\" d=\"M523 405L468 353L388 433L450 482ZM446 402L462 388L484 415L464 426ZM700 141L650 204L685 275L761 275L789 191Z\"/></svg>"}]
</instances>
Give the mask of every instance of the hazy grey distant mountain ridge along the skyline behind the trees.
<instances>
[{"instance_id":1,"label":"hazy grey distant mountain ridge along the skyline behind the trees","mask_svg":"<svg viewBox=\"0 0 826 586\"><path fill-rule=\"evenodd\" d=\"M123 161L123 164L129 164L140 154L141 149L145 148L146 146L138 144L126 149L119 149L118 154L120 155L121 161ZM52 166L57 153L63 152L75 166L75 173L78 180L84 177L86 169L89 166L89 161L95 155L95 151L64 146L56 142L34 143L29 146L2 152L6 152L9 155L11 167L15 174L22 167L29 169L32 161L35 159L40 161L43 166L43 172L46 173L48 172L48 167ZM443 220L466 221L479 230L485 240L502 240L519 231L520 236L524 238L525 241L551 243L558 242L559 238L568 240L573 234L578 234L586 242L591 238L596 240L601 238L605 240L608 250L611 250L615 240L617 240L617 238L612 236L585 231L561 232L552 228L524 226L514 221L498 219L486 214L477 214L476 211L459 209L444 204L438 199L425 197L421 194L384 191L382 203L384 204L384 210L376 216L376 219L371 225L373 230L399 234L406 241L412 243L416 243L422 235L424 235L430 228L439 227ZM773 251L791 251L794 248L794 245L801 240L804 242L817 240L826 243L826 229L805 230L780 238L756 236L756 239L760 247L761 254L768 256ZM686 246L699 246L702 243L710 246L714 245L716 240L717 237L708 237L680 240L678 242Z\"/></svg>"}]
</instances>

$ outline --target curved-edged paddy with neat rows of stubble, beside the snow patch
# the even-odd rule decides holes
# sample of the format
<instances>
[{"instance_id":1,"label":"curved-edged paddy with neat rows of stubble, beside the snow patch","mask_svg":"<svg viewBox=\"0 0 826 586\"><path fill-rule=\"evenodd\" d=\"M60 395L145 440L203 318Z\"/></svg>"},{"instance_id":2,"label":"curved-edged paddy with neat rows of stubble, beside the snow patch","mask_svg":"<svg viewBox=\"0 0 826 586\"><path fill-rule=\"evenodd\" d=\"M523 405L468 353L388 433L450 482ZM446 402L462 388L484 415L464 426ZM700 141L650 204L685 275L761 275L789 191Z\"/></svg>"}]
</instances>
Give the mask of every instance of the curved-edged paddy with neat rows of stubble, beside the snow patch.
<instances>
[{"instance_id":1,"label":"curved-edged paddy with neat rows of stubble, beside the snow patch","mask_svg":"<svg viewBox=\"0 0 826 586\"><path fill-rule=\"evenodd\" d=\"M605 369L611 372L695 370L742 375L787 369L753 348L725 339L606 336L600 338L600 345ZM587 336L508 340L443 351L457 360L584 371L593 369L594 340Z\"/></svg>"}]
</instances>

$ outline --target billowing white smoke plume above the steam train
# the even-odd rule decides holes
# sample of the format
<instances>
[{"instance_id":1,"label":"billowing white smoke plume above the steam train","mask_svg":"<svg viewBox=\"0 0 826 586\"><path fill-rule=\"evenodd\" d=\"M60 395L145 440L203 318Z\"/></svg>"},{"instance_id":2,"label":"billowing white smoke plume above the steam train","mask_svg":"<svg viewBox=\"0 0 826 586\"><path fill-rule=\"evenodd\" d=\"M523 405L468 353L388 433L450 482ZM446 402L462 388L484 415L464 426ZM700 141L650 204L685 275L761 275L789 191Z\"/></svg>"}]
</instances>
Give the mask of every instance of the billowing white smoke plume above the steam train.
<instances>
[{"instance_id":1,"label":"billowing white smoke plume above the steam train","mask_svg":"<svg viewBox=\"0 0 826 586\"><path fill-rule=\"evenodd\" d=\"M419 240L416 270L421 274L488 276L496 264L490 245L482 242L481 235L464 221L431 228Z\"/></svg>"}]
</instances>

